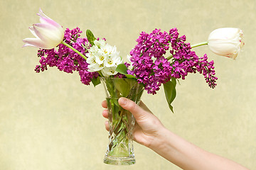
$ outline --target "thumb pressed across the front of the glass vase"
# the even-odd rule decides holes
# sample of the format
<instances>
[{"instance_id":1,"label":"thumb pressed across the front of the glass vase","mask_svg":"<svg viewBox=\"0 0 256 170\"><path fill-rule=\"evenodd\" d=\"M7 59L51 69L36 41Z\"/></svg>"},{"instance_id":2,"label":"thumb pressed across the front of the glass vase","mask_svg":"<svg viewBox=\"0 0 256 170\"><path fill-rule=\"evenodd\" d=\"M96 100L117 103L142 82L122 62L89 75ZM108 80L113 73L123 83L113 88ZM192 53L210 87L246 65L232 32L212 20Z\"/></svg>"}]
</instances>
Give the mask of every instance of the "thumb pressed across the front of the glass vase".
<instances>
[{"instance_id":1,"label":"thumb pressed across the front of the glass vase","mask_svg":"<svg viewBox=\"0 0 256 170\"><path fill-rule=\"evenodd\" d=\"M141 108L136 103L134 103L134 101L131 101L128 98L119 98L118 103L120 106L122 106L122 108L130 111L137 121L144 120L146 117L151 115L151 113L144 111L143 108Z\"/></svg>"}]
</instances>

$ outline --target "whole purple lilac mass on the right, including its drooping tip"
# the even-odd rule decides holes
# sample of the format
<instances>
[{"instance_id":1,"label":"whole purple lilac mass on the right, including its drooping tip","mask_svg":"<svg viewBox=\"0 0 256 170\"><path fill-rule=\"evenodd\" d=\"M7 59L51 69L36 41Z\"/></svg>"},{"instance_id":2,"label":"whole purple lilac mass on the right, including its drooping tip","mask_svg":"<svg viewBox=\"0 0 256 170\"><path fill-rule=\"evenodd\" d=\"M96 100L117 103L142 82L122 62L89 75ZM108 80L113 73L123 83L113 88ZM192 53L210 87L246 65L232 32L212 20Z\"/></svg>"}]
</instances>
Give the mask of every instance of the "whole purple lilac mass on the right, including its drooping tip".
<instances>
[{"instance_id":1,"label":"whole purple lilac mass on the right, including its drooping tip","mask_svg":"<svg viewBox=\"0 0 256 170\"><path fill-rule=\"evenodd\" d=\"M208 62L206 55L199 58L185 41L186 36L178 37L176 28L169 30L169 33L163 33L160 29L153 30L150 34L142 32L137 45L130 52L133 69L129 74L135 74L148 94L156 94L161 84L172 77L185 79L188 72L202 73L209 86L214 88L217 77L214 77L213 61ZM170 44L172 56L166 58L164 55Z\"/></svg>"}]
</instances>

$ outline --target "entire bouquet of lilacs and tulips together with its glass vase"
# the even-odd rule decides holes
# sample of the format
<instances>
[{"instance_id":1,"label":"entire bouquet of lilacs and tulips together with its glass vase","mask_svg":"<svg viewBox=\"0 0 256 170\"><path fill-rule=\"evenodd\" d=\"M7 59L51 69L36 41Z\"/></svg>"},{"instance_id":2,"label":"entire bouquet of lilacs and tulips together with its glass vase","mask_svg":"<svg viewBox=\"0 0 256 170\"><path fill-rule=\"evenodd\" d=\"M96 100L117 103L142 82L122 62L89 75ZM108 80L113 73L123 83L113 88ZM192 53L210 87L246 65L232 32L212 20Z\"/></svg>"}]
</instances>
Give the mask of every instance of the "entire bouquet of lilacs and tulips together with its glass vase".
<instances>
[{"instance_id":1,"label":"entire bouquet of lilacs and tulips together with its glass vase","mask_svg":"<svg viewBox=\"0 0 256 170\"><path fill-rule=\"evenodd\" d=\"M137 45L127 55L129 62L123 62L117 47L109 45L105 38L95 38L90 30L86 30L86 38L81 38L80 28L64 30L41 9L38 16L41 23L29 28L36 38L23 40L23 47L39 48L40 64L35 71L57 67L67 73L78 72L82 84L102 83L105 87L110 123L106 164L135 163L132 145L135 120L132 113L119 106L118 98L126 97L139 103L144 90L154 95L163 84L166 101L174 112L171 103L176 97L178 79L199 72L210 88L216 86L214 62L209 62L207 55L198 57L193 47L208 45L215 54L235 59L244 45L239 28L213 30L206 42L196 45L186 42L186 36L180 36L177 28L169 32L155 29L151 33L140 33Z\"/></svg>"}]
</instances>

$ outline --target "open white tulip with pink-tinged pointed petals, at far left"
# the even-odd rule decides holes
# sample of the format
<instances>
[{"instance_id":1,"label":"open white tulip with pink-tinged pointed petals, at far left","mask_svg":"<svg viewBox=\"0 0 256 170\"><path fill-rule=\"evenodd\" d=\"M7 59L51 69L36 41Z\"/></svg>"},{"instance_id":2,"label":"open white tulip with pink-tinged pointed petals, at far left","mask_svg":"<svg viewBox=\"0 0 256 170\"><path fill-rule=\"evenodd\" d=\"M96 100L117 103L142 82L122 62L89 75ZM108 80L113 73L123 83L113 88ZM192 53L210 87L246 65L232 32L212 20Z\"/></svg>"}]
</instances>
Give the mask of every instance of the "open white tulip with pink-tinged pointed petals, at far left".
<instances>
[{"instance_id":1,"label":"open white tulip with pink-tinged pointed petals, at far left","mask_svg":"<svg viewBox=\"0 0 256 170\"><path fill-rule=\"evenodd\" d=\"M29 28L36 38L25 38L23 40L25 45L23 45L23 47L33 46L43 49L52 49L63 41L64 30L60 24L46 16L41 8L38 16L40 16L41 23L35 23Z\"/></svg>"}]
</instances>

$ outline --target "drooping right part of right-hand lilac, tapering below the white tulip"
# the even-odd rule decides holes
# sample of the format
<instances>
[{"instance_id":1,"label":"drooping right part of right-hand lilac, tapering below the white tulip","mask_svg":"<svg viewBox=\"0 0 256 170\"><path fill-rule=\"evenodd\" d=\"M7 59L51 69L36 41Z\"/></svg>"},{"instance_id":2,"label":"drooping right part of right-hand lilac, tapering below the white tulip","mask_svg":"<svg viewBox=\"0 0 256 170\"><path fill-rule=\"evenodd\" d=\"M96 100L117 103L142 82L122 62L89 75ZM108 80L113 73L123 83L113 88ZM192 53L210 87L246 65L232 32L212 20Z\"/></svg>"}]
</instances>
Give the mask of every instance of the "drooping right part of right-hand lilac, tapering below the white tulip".
<instances>
[{"instance_id":1,"label":"drooping right part of right-hand lilac, tapering below the white tulip","mask_svg":"<svg viewBox=\"0 0 256 170\"><path fill-rule=\"evenodd\" d=\"M179 34L177 28L169 30L169 34L171 35L172 47L170 52L171 55L173 55L173 72L171 77L185 79L188 73L199 72L200 74L203 74L210 88L215 88L217 85L216 80L218 78L214 76L214 62L208 62L206 54L203 55L203 57L198 57L196 52L191 50L190 43L185 43L186 36L182 35L181 37L178 37Z\"/></svg>"}]
</instances>

